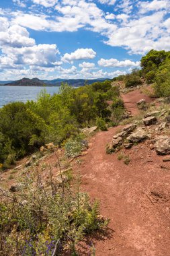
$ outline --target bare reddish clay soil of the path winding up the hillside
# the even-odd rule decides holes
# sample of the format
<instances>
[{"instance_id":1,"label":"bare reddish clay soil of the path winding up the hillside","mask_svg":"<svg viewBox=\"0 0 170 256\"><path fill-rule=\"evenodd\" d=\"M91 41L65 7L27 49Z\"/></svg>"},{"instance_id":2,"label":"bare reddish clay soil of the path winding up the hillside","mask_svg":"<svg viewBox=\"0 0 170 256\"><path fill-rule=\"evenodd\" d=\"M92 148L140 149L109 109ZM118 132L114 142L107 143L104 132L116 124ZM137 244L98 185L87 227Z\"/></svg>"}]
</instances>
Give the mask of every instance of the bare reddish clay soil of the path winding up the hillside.
<instances>
[{"instance_id":1,"label":"bare reddish clay soil of the path winding up the hillside","mask_svg":"<svg viewBox=\"0 0 170 256\"><path fill-rule=\"evenodd\" d=\"M151 102L140 90L123 98L132 114L138 113L141 98ZM124 150L130 156L128 165L118 154L106 154L106 144L120 128L93 136L79 167L81 189L99 199L102 216L110 218L108 232L92 240L95 256L169 256L170 164L150 150L149 141ZM83 245L81 255L91 255L90 243Z\"/></svg>"}]
</instances>

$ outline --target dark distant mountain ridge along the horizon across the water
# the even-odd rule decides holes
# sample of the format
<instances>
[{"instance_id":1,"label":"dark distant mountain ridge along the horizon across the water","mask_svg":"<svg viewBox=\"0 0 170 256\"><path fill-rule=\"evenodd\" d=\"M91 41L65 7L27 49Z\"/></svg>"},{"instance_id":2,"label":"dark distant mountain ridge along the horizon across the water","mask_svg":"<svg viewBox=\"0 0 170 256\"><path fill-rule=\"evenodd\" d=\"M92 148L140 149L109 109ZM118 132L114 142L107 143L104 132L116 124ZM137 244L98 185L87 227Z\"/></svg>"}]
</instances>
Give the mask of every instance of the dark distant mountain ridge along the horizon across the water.
<instances>
[{"instance_id":1,"label":"dark distant mountain ridge along the horizon across the water","mask_svg":"<svg viewBox=\"0 0 170 256\"><path fill-rule=\"evenodd\" d=\"M53 80L40 80L38 78L22 78L17 81L0 81L2 86L60 86L62 82L69 84L70 86L85 86L85 84L93 84L95 82L103 82L107 78L99 79L62 79L56 78ZM108 78L109 79L109 78ZM110 80L110 79L109 79Z\"/></svg>"}]
</instances>

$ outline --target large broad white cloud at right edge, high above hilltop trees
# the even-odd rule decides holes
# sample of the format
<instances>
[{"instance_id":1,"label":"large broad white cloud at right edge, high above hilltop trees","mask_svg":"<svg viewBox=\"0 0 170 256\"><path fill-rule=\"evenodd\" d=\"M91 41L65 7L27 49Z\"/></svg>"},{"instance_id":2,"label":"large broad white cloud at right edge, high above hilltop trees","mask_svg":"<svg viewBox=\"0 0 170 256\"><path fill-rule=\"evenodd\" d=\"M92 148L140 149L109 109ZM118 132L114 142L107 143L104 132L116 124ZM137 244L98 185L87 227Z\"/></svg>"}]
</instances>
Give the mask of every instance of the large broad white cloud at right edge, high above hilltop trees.
<instances>
[{"instance_id":1,"label":"large broad white cloud at right edge, high above hilltop trees","mask_svg":"<svg viewBox=\"0 0 170 256\"><path fill-rule=\"evenodd\" d=\"M170 36L163 23L164 11L158 11L152 15L131 19L128 24L120 26L113 34L108 34L106 44L122 46L130 53L144 54L151 49L165 49L163 41ZM169 44L170 50L170 44Z\"/></svg>"}]
</instances>

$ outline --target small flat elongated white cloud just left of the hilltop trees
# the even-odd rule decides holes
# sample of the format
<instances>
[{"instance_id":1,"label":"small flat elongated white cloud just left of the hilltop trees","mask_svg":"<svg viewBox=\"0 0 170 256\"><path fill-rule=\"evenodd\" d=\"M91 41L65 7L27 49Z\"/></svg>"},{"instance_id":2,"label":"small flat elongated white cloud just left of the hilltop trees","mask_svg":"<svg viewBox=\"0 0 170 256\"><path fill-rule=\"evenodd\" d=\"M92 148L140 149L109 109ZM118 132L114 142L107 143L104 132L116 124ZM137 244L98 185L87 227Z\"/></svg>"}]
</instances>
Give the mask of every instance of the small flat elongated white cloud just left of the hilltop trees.
<instances>
[{"instance_id":1,"label":"small flat elongated white cloud just left of the hilltop trees","mask_svg":"<svg viewBox=\"0 0 170 256\"><path fill-rule=\"evenodd\" d=\"M100 59L98 65L101 67L140 67L140 61L118 61L118 59Z\"/></svg>"}]
</instances>

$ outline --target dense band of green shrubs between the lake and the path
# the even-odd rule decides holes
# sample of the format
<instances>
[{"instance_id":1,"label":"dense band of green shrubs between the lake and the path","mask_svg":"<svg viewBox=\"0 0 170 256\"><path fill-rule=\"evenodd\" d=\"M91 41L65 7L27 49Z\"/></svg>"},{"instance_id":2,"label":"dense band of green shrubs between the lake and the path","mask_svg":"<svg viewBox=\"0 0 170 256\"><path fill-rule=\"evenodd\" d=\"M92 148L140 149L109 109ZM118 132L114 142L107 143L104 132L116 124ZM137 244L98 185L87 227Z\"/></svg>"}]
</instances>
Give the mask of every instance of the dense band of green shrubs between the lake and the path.
<instances>
[{"instance_id":1,"label":"dense band of green shrubs between the lake and the path","mask_svg":"<svg viewBox=\"0 0 170 256\"><path fill-rule=\"evenodd\" d=\"M53 96L43 89L36 102L3 106L0 109L0 163L9 167L15 159L45 143L61 146L71 136L75 137L79 128L95 123L98 118L110 121L112 109L107 101L119 94L111 81L77 89L62 84L59 93Z\"/></svg>"}]
</instances>

